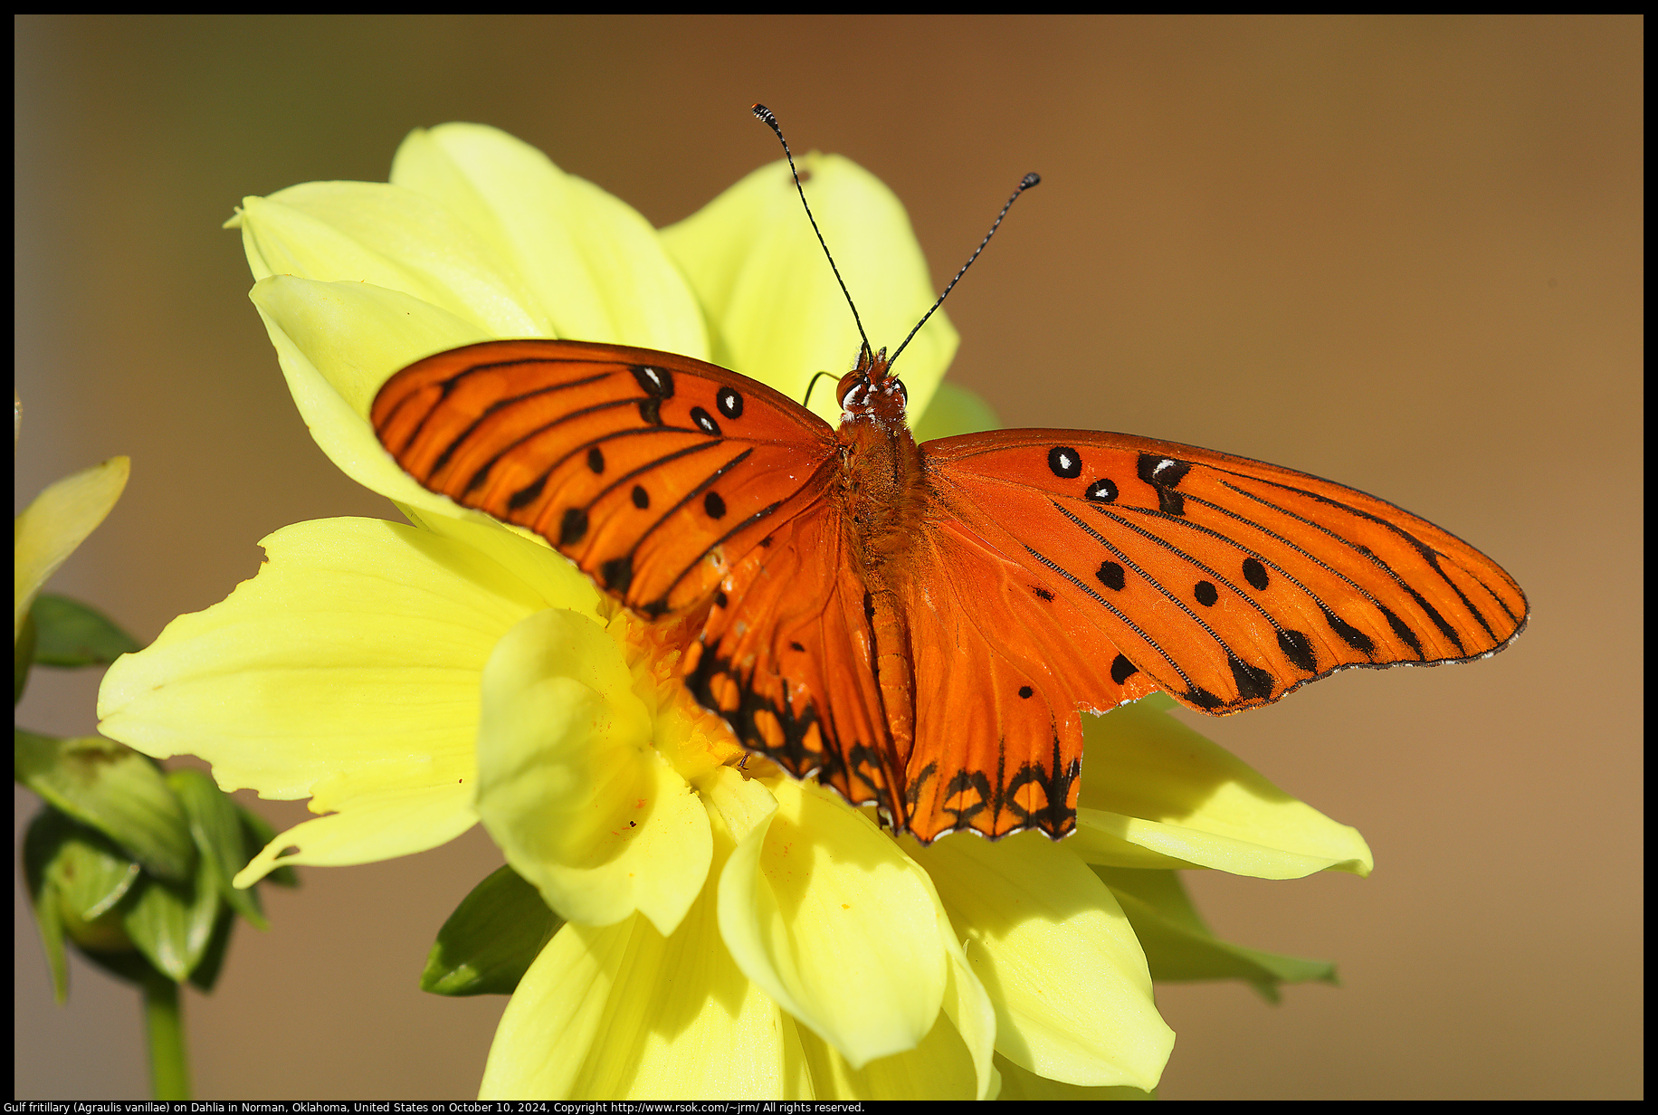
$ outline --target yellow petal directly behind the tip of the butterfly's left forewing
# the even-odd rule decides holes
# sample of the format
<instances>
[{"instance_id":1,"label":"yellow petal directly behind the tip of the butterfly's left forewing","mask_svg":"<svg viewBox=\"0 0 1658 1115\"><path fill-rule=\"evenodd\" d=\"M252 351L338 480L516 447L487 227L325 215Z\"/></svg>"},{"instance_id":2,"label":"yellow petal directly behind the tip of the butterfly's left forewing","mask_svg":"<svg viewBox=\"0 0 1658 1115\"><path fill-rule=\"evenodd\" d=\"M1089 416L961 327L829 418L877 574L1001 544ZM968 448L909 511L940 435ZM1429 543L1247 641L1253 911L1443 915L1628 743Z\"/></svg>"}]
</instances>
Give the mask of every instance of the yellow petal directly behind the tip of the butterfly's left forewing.
<instances>
[{"instance_id":1,"label":"yellow petal directly behind the tip of the butterfly's left forewing","mask_svg":"<svg viewBox=\"0 0 1658 1115\"><path fill-rule=\"evenodd\" d=\"M300 416L340 471L400 503L476 516L414 483L375 438L368 408L395 372L489 334L428 302L361 282L272 275L249 297L265 319Z\"/></svg>"}]
</instances>

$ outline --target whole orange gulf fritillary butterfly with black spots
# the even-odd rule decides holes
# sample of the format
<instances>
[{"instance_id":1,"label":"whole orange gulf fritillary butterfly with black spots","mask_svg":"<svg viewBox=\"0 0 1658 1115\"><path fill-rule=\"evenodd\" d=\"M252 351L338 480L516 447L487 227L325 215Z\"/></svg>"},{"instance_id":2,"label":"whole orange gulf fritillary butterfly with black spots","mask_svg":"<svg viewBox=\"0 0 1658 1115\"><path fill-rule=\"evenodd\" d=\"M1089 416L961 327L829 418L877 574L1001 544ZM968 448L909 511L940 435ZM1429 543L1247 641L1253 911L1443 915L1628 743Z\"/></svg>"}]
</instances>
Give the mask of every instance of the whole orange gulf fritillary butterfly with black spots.
<instances>
[{"instance_id":1,"label":"whole orange gulf fritillary butterfly with black spots","mask_svg":"<svg viewBox=\"0 0 1658 1115\"><path fill-rule=\"evenodd\" d=\"M685 684L746 748L922 843L1068 835L1079 710L1224 715L1525 626L1494 561L1328 480L1121 433L917 445L867 345L839 402L836 430L690 357L499 340L398 372L371 420L428 489L700 629Z\"/></svg>"}]
</instances>

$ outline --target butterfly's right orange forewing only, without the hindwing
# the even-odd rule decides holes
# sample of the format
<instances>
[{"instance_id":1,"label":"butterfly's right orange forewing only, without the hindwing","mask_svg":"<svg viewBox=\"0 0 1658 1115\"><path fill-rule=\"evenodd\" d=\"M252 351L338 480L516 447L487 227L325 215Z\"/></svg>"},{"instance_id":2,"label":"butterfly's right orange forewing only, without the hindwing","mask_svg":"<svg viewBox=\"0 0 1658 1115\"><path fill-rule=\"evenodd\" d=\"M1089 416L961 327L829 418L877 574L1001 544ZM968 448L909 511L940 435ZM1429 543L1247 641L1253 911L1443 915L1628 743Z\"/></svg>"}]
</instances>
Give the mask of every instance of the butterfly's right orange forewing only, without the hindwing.
<instances>
[{"instance_id":1,"label":"butterfly's right orange forewing only, without the hindwing","mask_svg":"<svg viewBox=\"0 0 1658 1115\"><path fill-rule=\"evenodd\" d=\"M963 524L1086 614L1113 677L1234 712L1348 665L1466 660L1524 624L1514 581L1365 493L1245 458L1111 433L930 441ZM1056 624L1056 631L1063 631Z\"/></svg>"}]
</instances>

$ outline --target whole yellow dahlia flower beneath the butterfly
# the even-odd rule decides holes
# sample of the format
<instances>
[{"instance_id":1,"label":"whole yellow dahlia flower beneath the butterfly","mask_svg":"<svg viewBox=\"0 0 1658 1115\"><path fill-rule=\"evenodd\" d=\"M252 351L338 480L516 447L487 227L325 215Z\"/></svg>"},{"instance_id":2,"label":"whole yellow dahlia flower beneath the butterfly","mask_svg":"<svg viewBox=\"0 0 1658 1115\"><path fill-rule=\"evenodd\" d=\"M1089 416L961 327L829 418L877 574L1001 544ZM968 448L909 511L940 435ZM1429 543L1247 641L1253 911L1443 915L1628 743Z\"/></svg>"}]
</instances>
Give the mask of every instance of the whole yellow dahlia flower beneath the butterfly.
<instances>
[{"instance_id":1,"label":"whole yellow dahlia flower beneath the butterfly","mask_svg":"<svg viewBox=\"0 0 1658 1115\"><path fill-rule=\"evenodd\" d=\"M804 164L865 329L902 337L932 300L902 206L846 159ZM859 340L786 169L660 234L489 128L416 131L391 179L250 197L234 224L313 436L413 526L277 531L257 577L111 667L99 713L151 755L202 755L227 790L325 813L240 884L482 820L567 923L502 1017L486 1097L1149 1090L1174 1035L1091 868L1368 871L1353 830L1144 702L1089 730L1098 773L1058 845L924 850L744 763L675 680L671 634L542 539L423 489L366 411L406 363L492 337L665 348L802 397ZM938 314L907 350L915 413L955 343Z\"/></svg>"}]
</instances>

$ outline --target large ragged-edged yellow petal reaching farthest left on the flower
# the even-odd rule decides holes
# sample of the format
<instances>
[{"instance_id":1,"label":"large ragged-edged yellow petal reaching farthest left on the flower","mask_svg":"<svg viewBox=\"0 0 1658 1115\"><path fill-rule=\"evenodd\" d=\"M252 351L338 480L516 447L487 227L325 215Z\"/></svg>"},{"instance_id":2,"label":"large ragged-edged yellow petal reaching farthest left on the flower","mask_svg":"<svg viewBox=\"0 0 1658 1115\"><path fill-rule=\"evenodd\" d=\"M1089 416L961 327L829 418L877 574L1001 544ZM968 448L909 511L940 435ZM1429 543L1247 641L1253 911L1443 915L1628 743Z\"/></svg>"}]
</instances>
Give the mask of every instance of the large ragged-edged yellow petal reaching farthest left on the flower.
<instances>
[{"instance_id":1,"label":"large ragged-edged yellow petal reaching farthest left on the flower","mask_svg":"<svg viewBox=\"0 0 1658 1115\"><path fill-rule=\"evenodd\" d=\"M449 840L474 820L489 652L524 616L575 601L557 581L527 582L463 543L378 519L300 523L262 544L257 577L109 667L99 728L158 758L201 755L225 790L315 795L317 811L361 805L380 825L388 810L424 818L398 828L410 843L395 851L358 831L368 843L353 853L350 825L323 826L328 863Z\"/></svg>"}]
</instances>

